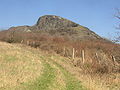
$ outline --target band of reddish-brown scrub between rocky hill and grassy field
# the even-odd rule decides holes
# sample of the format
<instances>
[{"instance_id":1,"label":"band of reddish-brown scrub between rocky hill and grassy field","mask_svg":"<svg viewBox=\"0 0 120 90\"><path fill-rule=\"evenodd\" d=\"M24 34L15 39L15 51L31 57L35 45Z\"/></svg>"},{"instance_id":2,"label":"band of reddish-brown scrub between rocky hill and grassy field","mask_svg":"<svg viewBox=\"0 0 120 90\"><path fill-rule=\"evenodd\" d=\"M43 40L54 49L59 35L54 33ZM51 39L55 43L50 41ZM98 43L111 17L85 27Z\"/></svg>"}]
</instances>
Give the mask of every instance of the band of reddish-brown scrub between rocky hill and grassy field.
<instances>
[{"instance_id":1,"label":"band of reddish-brown scrub between rocky hill and grassy field","mask_svg":"<svg viewBox=\"0 0 120 90\"><path fill-rule=\"evenodd\" d=\"M120 72L120 46L103 39L78 40L67 35L54 35L45 32L0 32L0 40L9 43L22 43L31 47L55 52L72 59L73 64L85 73ZM85 62L82 63L82 50L85 51Z\"/></svg>"}]
</instances>

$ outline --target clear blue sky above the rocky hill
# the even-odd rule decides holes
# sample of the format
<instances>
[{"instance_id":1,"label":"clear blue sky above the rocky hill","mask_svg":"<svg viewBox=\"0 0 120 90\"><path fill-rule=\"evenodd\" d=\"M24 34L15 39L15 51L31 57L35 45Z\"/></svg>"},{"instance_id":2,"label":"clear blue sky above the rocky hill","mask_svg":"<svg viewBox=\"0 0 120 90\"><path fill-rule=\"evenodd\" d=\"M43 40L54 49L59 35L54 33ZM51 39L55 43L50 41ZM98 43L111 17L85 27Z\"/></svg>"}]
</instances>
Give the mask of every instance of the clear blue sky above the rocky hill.
<instances>
[{"instance_id":1,"label":"clear blue sky above the rocky hill","mask_svg":"<svg viewBox=\"0 0 120 90\"><path fill-rule=\"evenodd\" d=\"M34 25L43 15L57 15L86 26L103 37L117 30L120 0L0 0L0 29Z\"/></svg>"}]
</instances>

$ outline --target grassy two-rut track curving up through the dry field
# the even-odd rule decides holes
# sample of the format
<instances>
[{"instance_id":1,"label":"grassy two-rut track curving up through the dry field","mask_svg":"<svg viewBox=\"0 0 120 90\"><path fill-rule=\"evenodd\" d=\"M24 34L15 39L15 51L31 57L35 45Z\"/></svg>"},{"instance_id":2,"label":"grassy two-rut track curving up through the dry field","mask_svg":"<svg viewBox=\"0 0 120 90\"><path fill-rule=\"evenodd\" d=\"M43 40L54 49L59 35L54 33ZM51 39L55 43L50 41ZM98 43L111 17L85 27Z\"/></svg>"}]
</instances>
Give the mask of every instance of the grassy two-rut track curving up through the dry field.
<instances>
[{"instance_id":1,"label":"grassy two-rut track curving up through the dry field","mask_svg":"<svg viewBox=\"0 0 120 90\"><path fill-rule=\"evenodd\" d=\"M36 81L25 84L25 88L23 90L86 90L83 88L80 81L74 78L74 76L72 76L57 62L50 60L49 57L41 55L40 58L44 64L43 74L41 77L36 79ZM58 83L56 80L57 76L59 76L56 73L58 70L63 74L62 77L60 77L64 80L62 84Z\"/></svg>"}]
</instances>

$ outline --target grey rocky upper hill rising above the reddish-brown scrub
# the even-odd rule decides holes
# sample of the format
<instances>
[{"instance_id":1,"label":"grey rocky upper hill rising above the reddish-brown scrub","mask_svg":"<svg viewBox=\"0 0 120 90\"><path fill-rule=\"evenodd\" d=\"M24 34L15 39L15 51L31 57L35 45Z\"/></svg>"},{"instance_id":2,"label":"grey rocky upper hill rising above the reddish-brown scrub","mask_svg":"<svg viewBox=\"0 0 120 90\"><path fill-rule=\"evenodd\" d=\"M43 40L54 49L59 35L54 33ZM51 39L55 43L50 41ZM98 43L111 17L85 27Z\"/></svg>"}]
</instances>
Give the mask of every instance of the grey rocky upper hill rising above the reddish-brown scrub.
<instances>
[{"instance_id":1,"label":"grey rocky upper hill rising above the reddish-brown scrub","mask_svg":"<svg viewBox=\"0 0 120 90\"><path fill-rule=\"evenodd\" d=\"M102 39L88 28L59 16L45 15L38 19L34 26L12 27L8 31L47 33L50 35L69 36L72 39Z\"/></svg>"}]
</instances>

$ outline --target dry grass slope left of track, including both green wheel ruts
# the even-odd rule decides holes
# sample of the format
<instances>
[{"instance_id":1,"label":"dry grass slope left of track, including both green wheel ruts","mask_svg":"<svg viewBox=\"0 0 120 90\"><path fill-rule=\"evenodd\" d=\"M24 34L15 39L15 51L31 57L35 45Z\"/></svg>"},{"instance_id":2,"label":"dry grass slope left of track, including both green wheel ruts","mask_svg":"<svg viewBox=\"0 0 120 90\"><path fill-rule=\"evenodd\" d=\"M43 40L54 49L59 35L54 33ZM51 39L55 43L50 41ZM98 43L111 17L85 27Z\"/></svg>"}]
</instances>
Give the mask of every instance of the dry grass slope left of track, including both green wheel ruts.
<instances>
[{"instance_id":1,"label":"dry grass slope left of track, including both green wheel ruts","mask_svg":"<svg viewBox=\"0 0 120 90\"><path fill-rule=\"evenodd\" d=\"M62 65L44 53L23 45L0 42L0 90L85 88Z\"/></svg>"}]
</instances>

